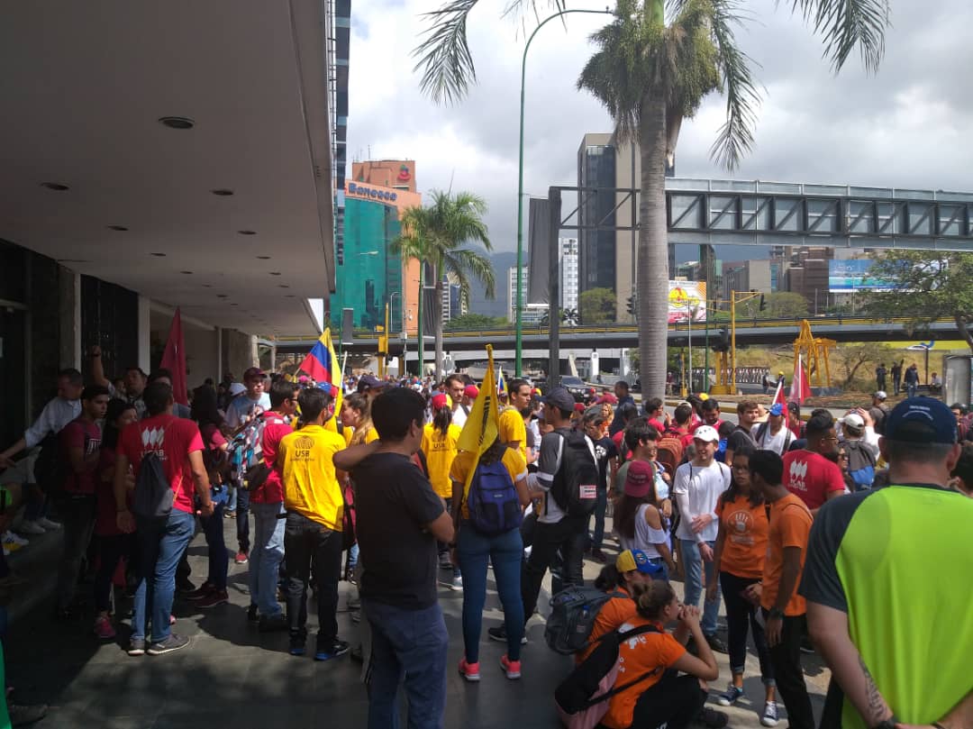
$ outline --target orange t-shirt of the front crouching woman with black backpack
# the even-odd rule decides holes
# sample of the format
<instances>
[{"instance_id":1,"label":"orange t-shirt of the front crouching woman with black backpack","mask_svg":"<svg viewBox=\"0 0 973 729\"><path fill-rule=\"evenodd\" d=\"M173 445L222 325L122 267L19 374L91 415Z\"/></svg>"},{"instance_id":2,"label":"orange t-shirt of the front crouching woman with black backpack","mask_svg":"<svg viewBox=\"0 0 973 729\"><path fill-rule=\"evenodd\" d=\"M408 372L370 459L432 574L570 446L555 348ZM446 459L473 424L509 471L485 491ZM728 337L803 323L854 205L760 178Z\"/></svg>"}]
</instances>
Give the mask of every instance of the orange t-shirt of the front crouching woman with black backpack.
<instances>
[{"instance_id":1,"label":"orange t-shirt of the front crouching woman with black backpack","mask_svg":"<svg viewBox=\"0 0 973 729\"><path fill-rule=\"evenodd\" d=\"M632 628L649 625L652 622L636 615L623 623L619 630L631 631ZM642 674L654 673L647 675L625 691L611 697L608 703L608 712L601 719L601 723L609 729L627 729L627 727L630 727L638 697L662 680L666 670L682 658L686 652L686 646L672 638L671 634L666 633L661 625L656 623L656 628L662 632L643 633L626 640L619 646L620 663L618 677L615 679L617 684L629 683Z\"/></svg>"}]
</instances>

